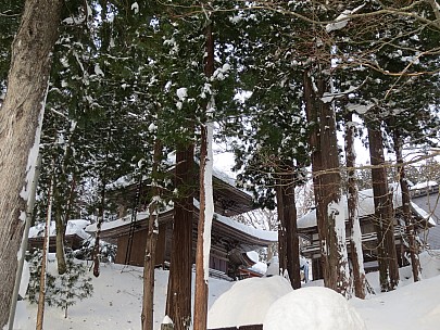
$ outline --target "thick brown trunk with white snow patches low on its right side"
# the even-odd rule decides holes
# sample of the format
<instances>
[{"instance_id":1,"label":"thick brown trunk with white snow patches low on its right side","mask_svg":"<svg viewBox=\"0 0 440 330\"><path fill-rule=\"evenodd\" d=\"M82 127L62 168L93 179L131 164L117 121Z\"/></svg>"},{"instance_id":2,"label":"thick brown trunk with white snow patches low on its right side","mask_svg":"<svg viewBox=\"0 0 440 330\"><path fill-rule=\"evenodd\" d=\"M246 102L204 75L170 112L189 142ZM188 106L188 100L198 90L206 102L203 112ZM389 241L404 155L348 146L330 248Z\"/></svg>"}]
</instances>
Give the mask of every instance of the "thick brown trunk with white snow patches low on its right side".
<instances>
[{"instance_id":1,"label":"thick brown trunk with white snow patches low on its right side","mask_svg":"<svg viewBox=\"0 0 440 330\"><path fill-rule=\"evenodd\" d=\"M320 76L316 80L317 94L313 91L309 72L304 72L303 78L307 122L314 123L310 144L324 283L327 288L349 295L345 215L340 205L341 176L335 111L328 103L320 101L326 91L325 78Z\"/></svg>"}]
</instances>

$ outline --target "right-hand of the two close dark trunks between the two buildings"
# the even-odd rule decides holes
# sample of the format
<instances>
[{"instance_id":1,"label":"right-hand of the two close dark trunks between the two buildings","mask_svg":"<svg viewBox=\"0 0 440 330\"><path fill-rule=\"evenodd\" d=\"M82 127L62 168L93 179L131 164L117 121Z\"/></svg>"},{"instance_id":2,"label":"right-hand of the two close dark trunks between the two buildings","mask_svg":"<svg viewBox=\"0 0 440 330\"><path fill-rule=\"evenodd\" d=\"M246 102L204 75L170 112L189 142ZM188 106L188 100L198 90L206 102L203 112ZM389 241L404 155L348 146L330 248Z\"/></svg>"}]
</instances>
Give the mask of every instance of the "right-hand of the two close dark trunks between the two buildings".
<instances>
[{"instance_id":1,"label":"right-hand of the two close dark trunks between the two buildings","mask_svg":"<svg viewBox=\"0 0 440 330\"><path fill-rule=\"evenodd\" d=\"M289 168L290 167L290 168ZM287 271L293 289L301 288L300 242L297 229L297 206L294 203L294 182L291 166L282 174L284 219L286 224Z\"/></svg>"}]
</instances>

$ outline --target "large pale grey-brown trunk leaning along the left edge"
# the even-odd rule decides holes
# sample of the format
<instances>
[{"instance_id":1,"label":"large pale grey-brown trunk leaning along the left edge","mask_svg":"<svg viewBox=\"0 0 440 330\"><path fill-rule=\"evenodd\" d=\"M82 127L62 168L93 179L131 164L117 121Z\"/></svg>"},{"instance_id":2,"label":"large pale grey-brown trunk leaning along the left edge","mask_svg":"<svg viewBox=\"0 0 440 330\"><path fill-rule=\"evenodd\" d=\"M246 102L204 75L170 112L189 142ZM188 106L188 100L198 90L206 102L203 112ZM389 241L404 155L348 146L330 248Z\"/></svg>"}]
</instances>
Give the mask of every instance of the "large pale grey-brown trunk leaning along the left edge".
<instances>
[{"instance_id":1,"label":"large pale grey-brown trunk leaning along the left edge","mask_svg":"<svg viewBox=\"0 0 440 330\"><path fill-rule=\"evenodd\" d=\"M62 1L27 0L0 111L0 328L8 322Z\"/></svg>"}]
</instances>

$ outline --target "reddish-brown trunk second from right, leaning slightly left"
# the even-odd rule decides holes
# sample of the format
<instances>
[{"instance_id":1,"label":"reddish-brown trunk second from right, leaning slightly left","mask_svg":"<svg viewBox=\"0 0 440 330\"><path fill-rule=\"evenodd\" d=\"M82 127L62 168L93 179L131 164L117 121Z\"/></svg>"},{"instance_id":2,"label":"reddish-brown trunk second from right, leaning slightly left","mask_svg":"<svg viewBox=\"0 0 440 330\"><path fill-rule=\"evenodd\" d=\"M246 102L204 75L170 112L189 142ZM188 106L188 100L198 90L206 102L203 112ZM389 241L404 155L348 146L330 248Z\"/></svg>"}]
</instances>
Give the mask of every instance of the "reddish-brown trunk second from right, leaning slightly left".
<instances>
[{"instance_id":1,"label":"reddish-brown trunk second from right, leaning slightly left","mask_svg":"<svg viewBox=\"0 0 440 330\"><path fill-rule=\"evenodd\" d=\"M388 190L387 169L384 160L384 141L379 127L368 124L369 156L375 203L377 232L377 261L379 264L380 290L394 290L399 283L399 266L394 243L392 202Z\"/></svg>"}]
</instances>

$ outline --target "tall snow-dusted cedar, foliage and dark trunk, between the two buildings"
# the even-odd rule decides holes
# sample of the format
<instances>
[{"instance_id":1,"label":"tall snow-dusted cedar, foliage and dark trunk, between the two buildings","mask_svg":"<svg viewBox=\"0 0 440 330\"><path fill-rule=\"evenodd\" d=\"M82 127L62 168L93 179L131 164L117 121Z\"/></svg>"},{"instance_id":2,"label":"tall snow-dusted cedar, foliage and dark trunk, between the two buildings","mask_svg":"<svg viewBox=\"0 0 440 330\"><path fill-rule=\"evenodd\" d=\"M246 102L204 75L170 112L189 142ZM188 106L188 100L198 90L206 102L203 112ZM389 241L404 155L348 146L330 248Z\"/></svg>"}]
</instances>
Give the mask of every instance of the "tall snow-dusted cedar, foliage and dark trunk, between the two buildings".
<instances>
[{"instance_id":1,"label":"tall snow-dusted cedar, foliage and dark trunk, between the two buildings","mask_svg":"<svg viewBox=\"0 0 440 330\"><path fill-rule=\"evenodd\" d=\"M294 188L303 183L301 167L309 156L306 124L298 102L302 91L292 65L296 24L260 10L242 13L240 18L239 79L241 89L252 94L241 106L246 115L239 131L244 145L237 144L235 152L236 168L243 173L238 182L253 191L259 206L273 208L276 198L280 271L288 274L293 288L300 288Z\"/></svg>"}]
</instances>

